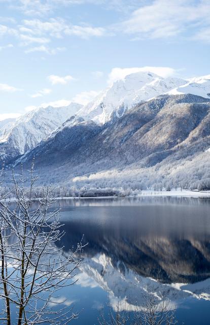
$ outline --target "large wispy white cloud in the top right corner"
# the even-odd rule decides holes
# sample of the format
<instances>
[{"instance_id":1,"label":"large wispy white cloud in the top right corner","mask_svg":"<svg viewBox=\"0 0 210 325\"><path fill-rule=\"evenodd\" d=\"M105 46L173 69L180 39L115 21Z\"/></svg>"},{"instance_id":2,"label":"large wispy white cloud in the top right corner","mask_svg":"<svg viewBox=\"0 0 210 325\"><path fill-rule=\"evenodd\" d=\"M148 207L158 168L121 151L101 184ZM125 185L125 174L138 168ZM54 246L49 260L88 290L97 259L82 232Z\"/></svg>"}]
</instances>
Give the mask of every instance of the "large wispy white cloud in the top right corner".
<instances>
[{"instance_id":1,"label":"large wispy white cloud in the top right corner","mask_svg":"<svg viewBox=\"0 0 210 325\"><path fill-rule=\"evenodd\" d=\"M200 0L155 0L135 10L131 17L118 25L127 34L139 38L170 38L210 26L210 2ZM188 37L191 37L188 36Z\"/></svg>"}]
</instances>

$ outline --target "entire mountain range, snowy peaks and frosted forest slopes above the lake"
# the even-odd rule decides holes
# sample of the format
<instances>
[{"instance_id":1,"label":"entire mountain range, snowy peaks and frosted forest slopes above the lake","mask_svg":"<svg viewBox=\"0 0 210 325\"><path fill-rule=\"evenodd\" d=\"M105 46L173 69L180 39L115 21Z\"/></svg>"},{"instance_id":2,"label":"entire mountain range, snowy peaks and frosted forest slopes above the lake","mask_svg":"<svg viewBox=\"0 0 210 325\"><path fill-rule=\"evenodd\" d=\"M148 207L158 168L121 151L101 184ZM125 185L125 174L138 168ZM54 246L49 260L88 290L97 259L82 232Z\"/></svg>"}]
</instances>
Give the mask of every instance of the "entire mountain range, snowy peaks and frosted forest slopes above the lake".
<instances>
[{"instance_id":1,"label":"entire mountain range, snowy peaks and frosted forest slopes above the lake","mask_svg":"<svg viewBox=\"0 0 210 325\"><path fill-rule=\"evenodd\" d=\"M0 148L8 168L35 157L44 183L210 186L210 75L128 75L86 106L38 108L2 122Z\"/></svg>"}]
</instances>

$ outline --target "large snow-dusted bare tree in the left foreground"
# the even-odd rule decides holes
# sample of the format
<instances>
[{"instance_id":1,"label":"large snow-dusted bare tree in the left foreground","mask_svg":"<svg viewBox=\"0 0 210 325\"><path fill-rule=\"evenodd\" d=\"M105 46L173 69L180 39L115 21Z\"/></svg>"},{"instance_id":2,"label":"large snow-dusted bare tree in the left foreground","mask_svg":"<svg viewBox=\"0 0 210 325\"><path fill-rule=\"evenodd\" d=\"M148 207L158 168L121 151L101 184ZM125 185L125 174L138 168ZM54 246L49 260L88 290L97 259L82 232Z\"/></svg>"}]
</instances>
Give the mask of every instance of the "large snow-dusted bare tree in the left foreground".
<instances>
[{"instance_id":1,"label":"large snow-dusted bare tree in the left foreground","mask_svg":"<svg viewBox=\"0 0 210 325\"><path fill-rule=\"evenodd\" d=\"M58 291L77 281L84 246L80 242L68 253L56 246L64 232L59 210L52 209L53 190L43 188L34 207L38 177L33 164L29 175L26 187L23 172L15 177L13 171L14 186L0 197L0 320L7 325L66 325L78 313L60 302ZM3 170L0 177L3 184Z\"/></svg>"}]
</instances>

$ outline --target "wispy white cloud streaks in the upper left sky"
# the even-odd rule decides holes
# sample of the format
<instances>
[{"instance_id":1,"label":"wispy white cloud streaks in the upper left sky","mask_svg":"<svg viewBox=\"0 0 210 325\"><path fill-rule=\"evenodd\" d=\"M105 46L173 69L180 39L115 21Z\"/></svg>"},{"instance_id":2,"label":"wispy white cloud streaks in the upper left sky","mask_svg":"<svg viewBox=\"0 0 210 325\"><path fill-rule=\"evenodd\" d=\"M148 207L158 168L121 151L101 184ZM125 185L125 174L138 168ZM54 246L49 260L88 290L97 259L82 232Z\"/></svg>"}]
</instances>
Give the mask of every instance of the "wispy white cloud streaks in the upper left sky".
<instances>
[{"instance_id":1,"label":"wispy white cloud streaks in the upper left sky","mask_svg":"<svg viewBox=\"0 0 210 325\"><path fill-rule=\"evenodd\" d=\"M24 6L30 3L30 0L20 1L24 3ZM89 39L90 37L102 37L106 34L107 30L103 27L90 26L84 23L74 25L59 17L49 18L44 21L41 19L24 19L21 24L16 24L15 28L0 24L0 36L15 37L21 46L26 47L25 53L45 52L47 54L56 54L63 51L65 47L49 48L47 45L54 38L66 39L68 36L76 36Z\"/></svg>"}]
</instances>

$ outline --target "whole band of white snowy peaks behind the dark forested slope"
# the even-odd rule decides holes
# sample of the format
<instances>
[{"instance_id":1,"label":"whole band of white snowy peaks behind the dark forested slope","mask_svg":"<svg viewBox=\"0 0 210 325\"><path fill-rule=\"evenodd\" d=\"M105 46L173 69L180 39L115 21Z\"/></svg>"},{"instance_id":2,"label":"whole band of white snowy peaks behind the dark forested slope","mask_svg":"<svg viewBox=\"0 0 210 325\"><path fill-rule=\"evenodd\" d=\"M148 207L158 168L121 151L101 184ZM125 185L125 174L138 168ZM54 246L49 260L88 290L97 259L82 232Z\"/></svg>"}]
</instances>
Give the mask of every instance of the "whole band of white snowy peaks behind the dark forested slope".
<instances>
[{"instance_id":1,"label":"whole band of white snowy peaks behind the dark forested slope","mask_svg":"<svg viewBox=\"0 0 210 325\"><path fill-rule=\"evenodd\" d=\"M0 125L0 160L4 160L6 164L12 163L48 138L55 130L60 132L61 128L71 128L85 121L95 122L100 126L112 116L123 116L137 104L147 103L152 99L160 100L158 96L163 94L192 94L202 96L205 100L210 99L210 75L187 81L174 77L163 78L150 72L137 72L114 82L86 106L71 103L66 107L37 108L15 121ZM177 112L176 110L176 114ZM145 116L147 114L148 109ZM73 122L69 119L71 116L77 116L79 119L75 118ZM125 139L128 136L126 134Z\"/></svg>"}]
</instances>

